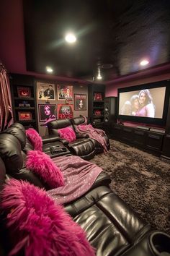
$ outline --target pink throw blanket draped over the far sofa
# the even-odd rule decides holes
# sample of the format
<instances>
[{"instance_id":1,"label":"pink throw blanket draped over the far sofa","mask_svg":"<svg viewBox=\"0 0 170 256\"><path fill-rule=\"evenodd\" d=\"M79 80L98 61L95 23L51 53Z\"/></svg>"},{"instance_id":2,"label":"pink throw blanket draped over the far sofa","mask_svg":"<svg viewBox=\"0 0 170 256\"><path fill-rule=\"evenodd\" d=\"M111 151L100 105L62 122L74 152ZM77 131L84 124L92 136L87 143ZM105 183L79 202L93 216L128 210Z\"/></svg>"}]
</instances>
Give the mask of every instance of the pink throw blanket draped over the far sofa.
<instances>
[{"instance_id":1,"label":"pink throw blanket draped over the far sofa","mask_svg":"<svg viewBox=\"0 0 170 256\"><path fill-rule=\"evenodd\" d=\"M84 116L84 124L76 125L76 132L86 133L91 139L97 140L100 145L104 148L104 153L107 153L107 142L104 138L107 135L102 129L92 127L91 124L86 124L86 117Z\"/></svg>"}]
</instances>

